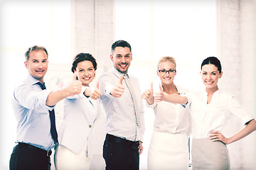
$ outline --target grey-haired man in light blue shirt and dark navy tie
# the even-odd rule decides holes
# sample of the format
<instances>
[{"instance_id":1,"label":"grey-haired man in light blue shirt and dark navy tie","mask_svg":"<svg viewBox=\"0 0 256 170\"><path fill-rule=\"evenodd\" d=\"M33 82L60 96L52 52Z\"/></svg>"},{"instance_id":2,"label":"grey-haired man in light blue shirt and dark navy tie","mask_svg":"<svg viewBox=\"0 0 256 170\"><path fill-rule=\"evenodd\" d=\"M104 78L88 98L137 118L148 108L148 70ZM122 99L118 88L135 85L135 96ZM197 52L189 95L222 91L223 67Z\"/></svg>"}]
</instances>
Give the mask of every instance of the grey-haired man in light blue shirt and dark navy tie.
<instances>
[{"instance_id":1,"label":"grey-haired man in light blue shirt and dark navy tie","mask_svg":"<svg viewBox=\"0 0 256 170\"><path fill-rule=\"evenodd\" d=\"M53 108L63 98L80 94L82 83L73 81L65 89L51 91L44 85L48 52L34 45L25 53L28 77L14 90L12 104L17 125L17 145L11 154L9 169L50 169L50 154L58 145Z\"/></svg>"}]
</instances>

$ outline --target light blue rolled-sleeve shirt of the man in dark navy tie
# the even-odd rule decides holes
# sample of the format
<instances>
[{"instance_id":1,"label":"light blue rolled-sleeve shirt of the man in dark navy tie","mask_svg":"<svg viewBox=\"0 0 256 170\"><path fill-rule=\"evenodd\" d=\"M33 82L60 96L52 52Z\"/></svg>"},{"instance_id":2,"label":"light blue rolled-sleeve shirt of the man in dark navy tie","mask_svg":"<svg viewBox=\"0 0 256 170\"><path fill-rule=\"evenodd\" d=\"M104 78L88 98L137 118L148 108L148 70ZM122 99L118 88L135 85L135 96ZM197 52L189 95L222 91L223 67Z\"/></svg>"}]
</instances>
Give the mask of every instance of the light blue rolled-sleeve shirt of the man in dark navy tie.
<instances>
[{"instance_id":1,"label":"light blue rolled-sleeve shirt of the man in dark navy tie","mask_svg":"<svg viewBox=\"0 0 256 170\"><path fill-rule=\"evenodd\" d=\"M18 122L16 142L25 142L50 150L55 146L50 135L48 111L53 107L46 106L50 91L42 90L37 82L37 79L28 75L28 78L14 90L12 104Z\"/></svg>"}]
</instances>

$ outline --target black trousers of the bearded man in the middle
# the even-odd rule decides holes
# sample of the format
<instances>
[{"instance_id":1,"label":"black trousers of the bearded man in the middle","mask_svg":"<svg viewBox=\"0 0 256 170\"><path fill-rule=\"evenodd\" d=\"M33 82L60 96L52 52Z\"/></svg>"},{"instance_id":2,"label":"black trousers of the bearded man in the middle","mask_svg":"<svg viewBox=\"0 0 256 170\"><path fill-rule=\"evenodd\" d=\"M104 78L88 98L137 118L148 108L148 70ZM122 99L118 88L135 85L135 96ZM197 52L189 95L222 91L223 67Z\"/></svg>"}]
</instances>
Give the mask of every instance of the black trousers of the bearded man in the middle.
<instances>
[{"instance_id":1,"label":"black trousers of the bearded man in the middle","mask_svg":"<svg viewBox=\"0 0 256 170\"><path fill-rule=\"evenodd\" d=\"M124 140L113 135L106 135L103 157L107 170L139 169L139 142Z\"/></svg>"}]
</instances>

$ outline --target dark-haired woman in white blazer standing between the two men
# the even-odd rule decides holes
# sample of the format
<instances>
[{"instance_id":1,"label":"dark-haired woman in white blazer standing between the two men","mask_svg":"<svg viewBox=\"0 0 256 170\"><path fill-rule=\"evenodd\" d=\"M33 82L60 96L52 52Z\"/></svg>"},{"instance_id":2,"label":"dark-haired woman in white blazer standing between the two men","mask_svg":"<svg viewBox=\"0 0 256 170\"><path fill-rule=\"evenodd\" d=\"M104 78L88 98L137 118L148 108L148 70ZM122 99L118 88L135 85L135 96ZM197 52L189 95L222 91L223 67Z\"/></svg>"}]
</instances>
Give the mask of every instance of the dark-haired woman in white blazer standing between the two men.
<instances>
[{"instance_id":1,"label":"dark-haired woman in white blazer standing between the two men","mask_svg":"<svg viewBox=\"0 0 256 170\"><path fill-rule=\"evenodd\" d=\"M58 132L60 145L55 151L56 169L90 169L92 128L100 115L100 103L96 100L101 96L99 85L93 90L89 88L96 69L97 62L92 55L75 56L71 69L73 81L81 82L82 91L65 98L63 124Z\"/></svg>"}]
</instances>

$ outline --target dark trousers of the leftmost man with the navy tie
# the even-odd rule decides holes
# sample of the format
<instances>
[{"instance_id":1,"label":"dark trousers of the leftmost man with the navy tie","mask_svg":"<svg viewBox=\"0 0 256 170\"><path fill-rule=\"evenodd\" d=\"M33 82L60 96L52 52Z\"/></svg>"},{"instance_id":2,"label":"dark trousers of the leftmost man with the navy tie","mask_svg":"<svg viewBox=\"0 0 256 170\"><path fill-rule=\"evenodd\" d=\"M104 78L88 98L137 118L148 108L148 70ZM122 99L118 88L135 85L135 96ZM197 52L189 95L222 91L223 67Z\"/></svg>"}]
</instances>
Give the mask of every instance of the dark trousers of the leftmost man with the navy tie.
<instances>
[{"instance_id":1,"label":"dark trousers of the leftmost man with the navy tie","mask_svg":"<svg viewBox=\"0 0 256 170\"><path fill-rule=\"evenodd\" d=\"M48 154L51 152L32 145L18 143L11 154L10 170L50 170Z\"/></svg>"}]
</instances>

